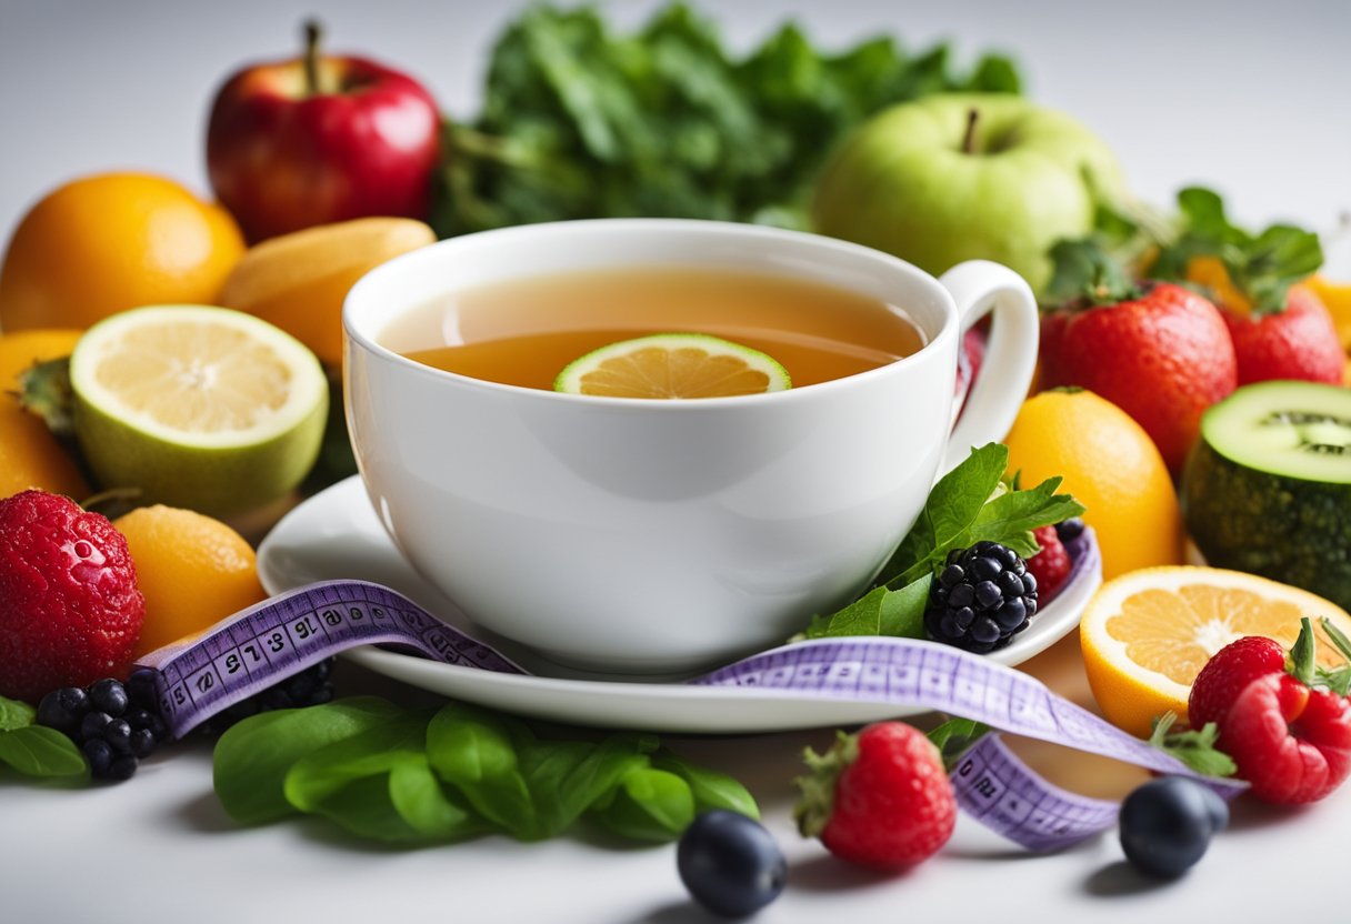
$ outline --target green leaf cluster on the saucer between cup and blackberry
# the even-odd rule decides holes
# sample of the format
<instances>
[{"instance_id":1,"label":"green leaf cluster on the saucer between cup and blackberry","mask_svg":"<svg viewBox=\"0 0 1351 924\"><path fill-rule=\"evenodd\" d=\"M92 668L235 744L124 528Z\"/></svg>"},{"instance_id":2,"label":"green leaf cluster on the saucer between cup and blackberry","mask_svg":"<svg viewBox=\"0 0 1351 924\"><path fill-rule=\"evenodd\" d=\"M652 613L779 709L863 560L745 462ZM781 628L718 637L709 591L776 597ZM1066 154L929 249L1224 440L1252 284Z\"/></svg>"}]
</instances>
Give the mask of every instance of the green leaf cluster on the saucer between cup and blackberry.
<instances>
[{"instance_id":1,"label":"green leaf cluster on the saucer between cup and blackberry","mask_svg":"<svg viewBox=\"0 0 1351 924\"><path fill-rule=\"evenodd\" d=\"M802 638L923 638L929 586L950 551L990 540L1019 555L1035 555L1039 546L1032 530L1084 512L1070 494L1056 493L1058 477L1027 490L1004 485L1008 458L1008 447L1000 443L971 450L934 485L875 586L843 609L813 617Z\"/></svg>"}]
</instances>

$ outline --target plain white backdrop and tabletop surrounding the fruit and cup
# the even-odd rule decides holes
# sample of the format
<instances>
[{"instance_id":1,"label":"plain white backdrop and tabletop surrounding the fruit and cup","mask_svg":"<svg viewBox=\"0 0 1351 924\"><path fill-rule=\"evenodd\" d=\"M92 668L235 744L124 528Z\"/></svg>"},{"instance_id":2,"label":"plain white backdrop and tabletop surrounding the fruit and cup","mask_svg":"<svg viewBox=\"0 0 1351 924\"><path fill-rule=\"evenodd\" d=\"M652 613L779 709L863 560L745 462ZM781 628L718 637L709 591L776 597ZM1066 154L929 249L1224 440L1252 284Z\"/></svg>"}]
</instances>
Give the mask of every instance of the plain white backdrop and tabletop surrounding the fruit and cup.
<instances>
[{"instance_id":1,"label":"plain white backdrop and tabletop surrounding the fruit and cup","mask_svg":"<svg viewBox=\"0 0 1351 924\"><path fill-rule=\"evenodd\" d=\"M77 173L149 168L204 188L207 100L242 59L289 53L308 12L335 47L359 47L424 77L457 113L473 111L496 26L517 4L301 3L0 4L0 230ZM613 4L627 23L650 3ZM705 0L738 46L796 9L843 45L880 28L909 47L954 36L957 54L998 46L1031 72L1039 100L1097 128L1132 185L1163 201L1206 181L1246 220L1294 217L1328 228L1351 205L1351 7L1325 3L1074 0L1013 4L831 4ZM1351 277L1346 238L1331 267ZM1073 681L1073 651L1066 682ZM1065 666L1065 665L1062 665ZM342 665L349 693L412 698ZM1029 856L962 819L943 854L898 878L848 870L792 828L790 778L805 744L831 734L674 738L694 759L740 777L789 855L789 888L757 920L1233 921L1321 912L1337 917L1351 789L1282 812L1240 805L1190 875L1150 885L1121 866L1112 838ZM1097 775L1096 773L1092 775ZM1084 778L1089 778L1085 774ZM708 921L674 873L674 850L580 838L520 846L489 838L417 851L354 846L319 823L239 831L211 794L201 746L153 759L115 788L61 792L0 781L0 908L5 921ZM96 871L95 871L96 870ZM92 877L92 878L91 878Z\"/></svg>"}]
</instances>

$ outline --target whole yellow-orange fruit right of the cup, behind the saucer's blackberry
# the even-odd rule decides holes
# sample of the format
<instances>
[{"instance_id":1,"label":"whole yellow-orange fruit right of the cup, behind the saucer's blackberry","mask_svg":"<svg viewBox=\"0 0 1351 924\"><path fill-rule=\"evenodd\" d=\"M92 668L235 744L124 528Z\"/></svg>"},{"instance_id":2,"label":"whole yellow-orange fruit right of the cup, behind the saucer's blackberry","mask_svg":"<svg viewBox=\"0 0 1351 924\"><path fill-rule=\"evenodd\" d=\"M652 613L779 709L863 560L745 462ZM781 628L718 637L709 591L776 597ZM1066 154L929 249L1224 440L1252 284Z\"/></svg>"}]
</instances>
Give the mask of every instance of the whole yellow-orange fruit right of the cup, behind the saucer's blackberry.
<instances>
[{"instance_id":1,"label":"whole yellow-orange fruit right of the cup, behind the saucer's blackberry","mask_svg":"<svg viewBox=\"0 0 1351 924\"><path fill-rule=\"evenodd\" d=\"M1144 430L1093 392L1050 390L1023 403L1004 440L1024 485L1063 476L1097 531L1102 575L1183 561L1182 515L1163 457Z\"/></svg>"}]
</instances>

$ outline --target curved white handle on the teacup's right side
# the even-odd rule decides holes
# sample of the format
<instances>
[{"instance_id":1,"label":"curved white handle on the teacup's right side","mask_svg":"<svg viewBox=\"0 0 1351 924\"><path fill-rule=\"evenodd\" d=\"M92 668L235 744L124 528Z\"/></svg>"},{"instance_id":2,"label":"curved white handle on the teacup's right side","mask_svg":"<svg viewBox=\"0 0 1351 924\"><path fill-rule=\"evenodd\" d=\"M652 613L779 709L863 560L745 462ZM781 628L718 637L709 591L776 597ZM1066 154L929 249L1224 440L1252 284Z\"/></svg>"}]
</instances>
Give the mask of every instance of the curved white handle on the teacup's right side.
<instances>
[{"instance_id":1,"label":"curved white handle on the teacup's right side","mask_svg":"<svg viewBox=\"0 0 1351 924\"><path fill-rule=\"evenodd\" d=\"M958 263L939 282L952 293L963 332L994 309L985 361L948 436L942 474L961 463L973 446L998 442L1013 426L1032 385L1040 319L1031 286L1000 263L988 259Z\"/></svg>"}]
</instances>

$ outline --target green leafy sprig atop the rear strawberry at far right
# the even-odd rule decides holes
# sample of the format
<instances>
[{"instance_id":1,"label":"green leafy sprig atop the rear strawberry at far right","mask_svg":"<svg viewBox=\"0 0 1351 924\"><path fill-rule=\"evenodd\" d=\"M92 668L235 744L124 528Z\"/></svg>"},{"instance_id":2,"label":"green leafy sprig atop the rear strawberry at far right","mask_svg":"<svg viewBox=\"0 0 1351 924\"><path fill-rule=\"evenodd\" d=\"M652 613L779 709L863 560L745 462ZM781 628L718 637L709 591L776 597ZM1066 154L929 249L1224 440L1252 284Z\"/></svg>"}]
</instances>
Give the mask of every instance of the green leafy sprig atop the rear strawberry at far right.
<instances>
[{"instance_id":1,"label":"green leafy sprig atop the rear strawberry at far right","mask_svg":"<svg viewBox=\"0 0 1351 924\"><path fill-rule=\"evenodd\" d=\"M1190 281L1192 261L1213 257L1255 315L1285 309L1290 286L1323 266L1319 235L1290 224L1273 224L1260 234L1232 224L1219 193L1190 186L1178 193L1181 232L1165 242L1150 274ZM1213 293L1212 293L1213 297Z\"/></svg>"}]
</instances>

